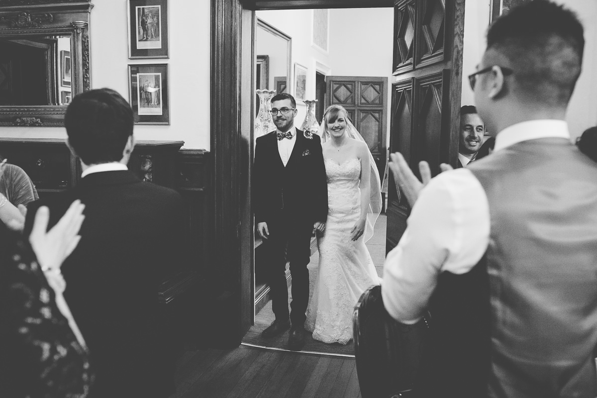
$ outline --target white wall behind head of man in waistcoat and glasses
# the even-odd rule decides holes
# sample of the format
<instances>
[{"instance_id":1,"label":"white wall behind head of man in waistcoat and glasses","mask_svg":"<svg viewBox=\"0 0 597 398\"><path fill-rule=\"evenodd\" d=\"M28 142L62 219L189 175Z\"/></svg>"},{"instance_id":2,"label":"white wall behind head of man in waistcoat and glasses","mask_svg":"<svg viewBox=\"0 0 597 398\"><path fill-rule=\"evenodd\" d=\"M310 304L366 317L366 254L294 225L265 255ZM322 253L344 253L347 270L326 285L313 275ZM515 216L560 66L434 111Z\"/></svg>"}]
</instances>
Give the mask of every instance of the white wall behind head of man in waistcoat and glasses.
<instances>
[{"instance_id":1,"label":"white wall behind head of man in waistcoat and glasses","mask_svg":"<svg viewBox=\"0 0 597 398\"><path fill-rule=\"evenodd\" d=\"M597 1L556 0L577 13L584 26L583 72L578 78L574 94L568 105L567 122L574 141L582 132L597 125ZM467 0L464 10L464 54L462 104L473 104L467 76L485 51L489 1Z\"/></svg>"}]
</instances>

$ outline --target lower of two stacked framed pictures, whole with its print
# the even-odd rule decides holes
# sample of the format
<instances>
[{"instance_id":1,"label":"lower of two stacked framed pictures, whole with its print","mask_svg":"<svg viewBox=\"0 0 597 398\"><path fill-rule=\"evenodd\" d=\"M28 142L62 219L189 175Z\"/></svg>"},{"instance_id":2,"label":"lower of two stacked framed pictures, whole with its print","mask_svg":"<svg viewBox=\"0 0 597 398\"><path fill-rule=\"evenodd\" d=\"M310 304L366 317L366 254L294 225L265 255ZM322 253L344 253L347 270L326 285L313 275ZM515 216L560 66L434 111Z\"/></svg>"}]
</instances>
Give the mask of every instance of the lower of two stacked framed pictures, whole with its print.
<instances>
[{"instance_id":1,"label":"lower of two stacked framed pictures, whole with its print","mask_svg":"<svg viewBox=\"0 0 597 398\"><path fill-rule=\"evenodd\" d=\"M129 65L128 97L135 124L170 124L168 64Z\"/></svg>"}]
</instances>

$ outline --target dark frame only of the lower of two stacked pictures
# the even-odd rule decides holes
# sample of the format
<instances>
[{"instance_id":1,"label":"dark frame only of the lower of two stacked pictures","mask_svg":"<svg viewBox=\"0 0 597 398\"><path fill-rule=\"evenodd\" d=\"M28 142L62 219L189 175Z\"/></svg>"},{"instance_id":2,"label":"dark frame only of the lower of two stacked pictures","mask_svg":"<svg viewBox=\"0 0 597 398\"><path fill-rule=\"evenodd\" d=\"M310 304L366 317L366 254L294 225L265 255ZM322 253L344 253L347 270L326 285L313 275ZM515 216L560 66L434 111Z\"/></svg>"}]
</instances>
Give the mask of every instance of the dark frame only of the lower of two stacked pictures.
<instances>
[{"instance_id":1,"label":"dark frame only of the lower of two stacked pictures","mask_svg":"<svg viewBox=\"0 0 597 398\"><path fill-rule=\"evenodd\" d=\"M147 70L143 71L143 68ZM163 68L161 72L152 72L151 69ZM136 73L137 86L133 87L133 69L139 69ZM161 80L161 109L162 115L140 115L139 114L139 73L157 74L162 73ZM128 101L133 108L133 118L136 125L170 125L170 76L167 63L152 64L128 64Z\"/></svg>"}]
</instances>

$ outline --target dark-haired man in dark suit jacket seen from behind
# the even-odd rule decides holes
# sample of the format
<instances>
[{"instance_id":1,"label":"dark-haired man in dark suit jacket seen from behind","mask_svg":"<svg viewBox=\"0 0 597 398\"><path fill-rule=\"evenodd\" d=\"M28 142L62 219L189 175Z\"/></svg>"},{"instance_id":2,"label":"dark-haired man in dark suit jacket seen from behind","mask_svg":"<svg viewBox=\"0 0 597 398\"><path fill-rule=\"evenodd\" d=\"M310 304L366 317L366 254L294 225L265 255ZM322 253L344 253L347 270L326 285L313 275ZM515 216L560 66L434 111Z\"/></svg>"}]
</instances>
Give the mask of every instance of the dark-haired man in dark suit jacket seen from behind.
<instances>
[{"instance_id":1,"label":"dark-haired man in dark suit jacket seen from behind","mask_svg":"<svg viewBox=\"0 0 597 398\"><path fill-rule=\"evenodd\" d=\"M158 284L180 266L180 195L144 183L127 169L133 112L118 92L104 88L77 95L65 124L67 145L81 159L81 182L31 203L26 232L40 205L49 206L51 226L74 199L81 199L81 241L62 272L64 297L96 373L91 396L170 396L173 366L158 319Z\"/></svg>"}]
</instances>

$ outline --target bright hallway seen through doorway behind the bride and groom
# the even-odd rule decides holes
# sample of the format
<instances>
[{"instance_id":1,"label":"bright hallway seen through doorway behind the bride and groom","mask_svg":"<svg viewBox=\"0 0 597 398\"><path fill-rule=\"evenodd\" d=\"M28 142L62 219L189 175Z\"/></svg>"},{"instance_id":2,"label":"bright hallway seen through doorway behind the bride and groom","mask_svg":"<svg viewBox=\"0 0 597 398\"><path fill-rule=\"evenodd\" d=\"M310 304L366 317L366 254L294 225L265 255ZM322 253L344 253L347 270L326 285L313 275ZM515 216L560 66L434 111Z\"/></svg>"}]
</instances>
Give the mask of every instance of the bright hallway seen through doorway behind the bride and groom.
<instances>
[{"instance_id":1,"label":"bright hallway seen through doorway behind the bride and groom","mask_svg":"<svg viewBox=\"0 0 597 398\"><path fill-rule=\"evenodd\" d=\"M273 86L275 79L283 79L288 92L296 98L298 115L294 125L304 129L309 112L315 113L319 125L327 106L343 106L350 121L361 132L382 177L389 127L388 83L392 79L393 17L393 8L256 11L253 45L256 49L256 86L261 82L260 88L263 88L263 82L267 79L263 77L262 61L266 59L270 86ZM285 45L280 45L281 38L287 38ZM290 54L287 53L288 48L291 48ZM355 55L355 49L359 50L358 55ZM287 73L288 70L290 73ZM270 88L277 89L275 86ZM312 100L316 100L313 109L310 108ZM264 135L271 130L272 127L256 128L254 134ZM378 217L374 236L367 242L379 275L385 255L385 229L385 215L382 214ZM269 286L265 283L266 270L270 268L267 245L260 244L258 235L256 241L255 325L242 341L261 347L286 348L287 333L279 339L260 338L260 332L270 325L274 316L268 303ZM308 269L309 292L313 294L319 255L315 237L311 243L312 258ZM290 287L288 269L287 281ZM305 350L350 356L354 353L352 343L345 347L335 345L330 348L327 344L313 341L309 334Z\"/></svg>"}]
</instances>

